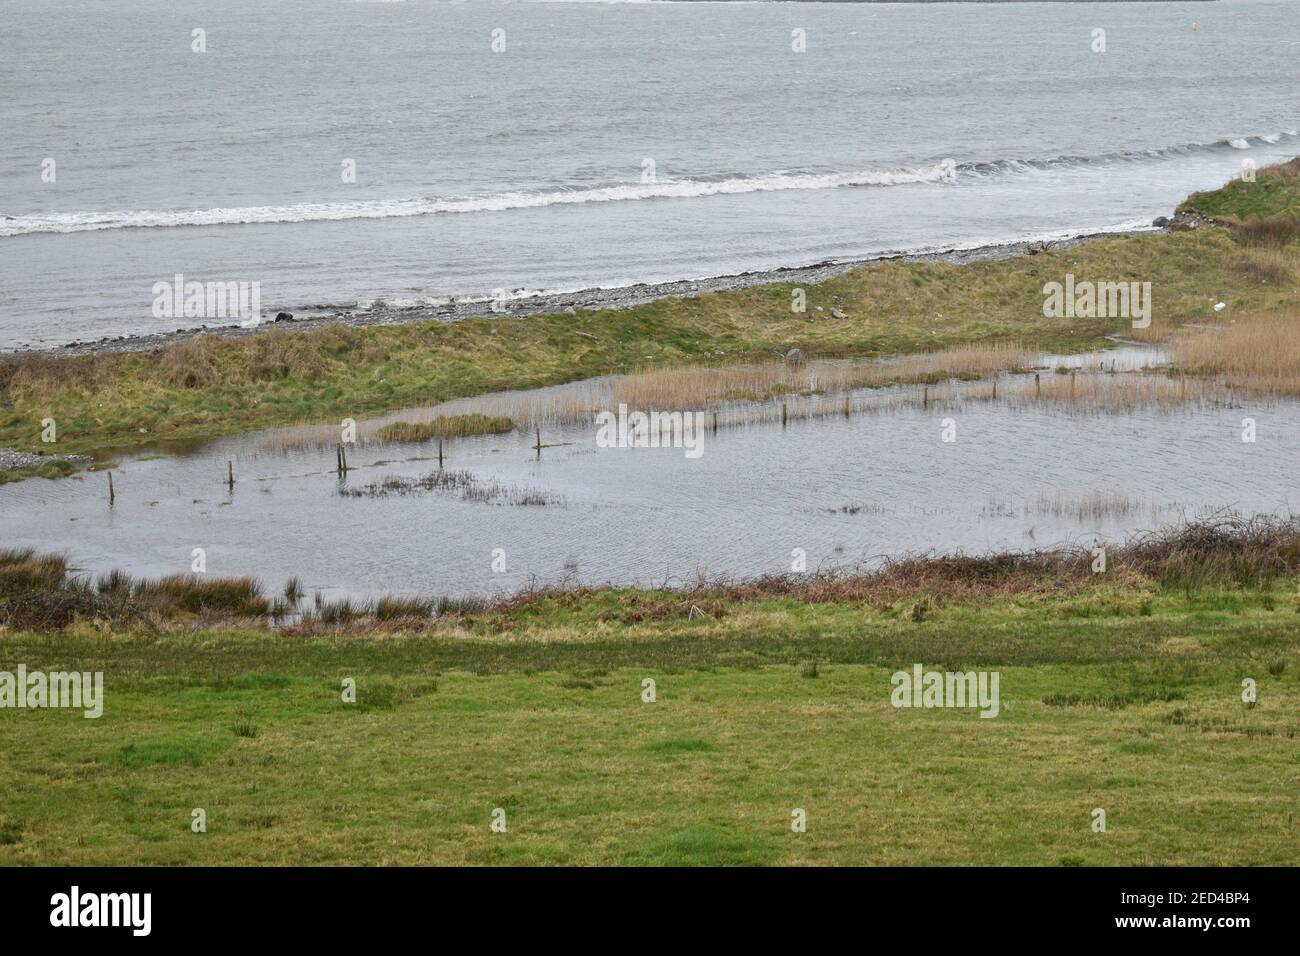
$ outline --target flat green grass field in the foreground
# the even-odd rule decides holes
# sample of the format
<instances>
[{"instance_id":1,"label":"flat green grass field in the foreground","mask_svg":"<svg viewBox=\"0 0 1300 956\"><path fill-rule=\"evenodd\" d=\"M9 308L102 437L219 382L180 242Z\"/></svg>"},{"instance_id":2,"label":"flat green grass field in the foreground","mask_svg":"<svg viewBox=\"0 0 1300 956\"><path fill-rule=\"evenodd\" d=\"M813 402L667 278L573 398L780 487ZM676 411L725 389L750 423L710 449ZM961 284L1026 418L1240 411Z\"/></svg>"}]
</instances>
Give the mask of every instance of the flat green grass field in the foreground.
<instances>
[{"instance_id":1,"label":"flat green grass field in the foreground","mask_svg":"<svg viewBox=\"0 0 1300 956\"><path fill-rule=\"evenodd\" d=\"M922 622L792 600L638 620L645 601L413 636L0 635L3 669L105 674L99 719L0 710L0 862L1300 862L1295 581ZM1000 714L890 706L916 662L998 671Z\"/></svg>"}]
</instances>

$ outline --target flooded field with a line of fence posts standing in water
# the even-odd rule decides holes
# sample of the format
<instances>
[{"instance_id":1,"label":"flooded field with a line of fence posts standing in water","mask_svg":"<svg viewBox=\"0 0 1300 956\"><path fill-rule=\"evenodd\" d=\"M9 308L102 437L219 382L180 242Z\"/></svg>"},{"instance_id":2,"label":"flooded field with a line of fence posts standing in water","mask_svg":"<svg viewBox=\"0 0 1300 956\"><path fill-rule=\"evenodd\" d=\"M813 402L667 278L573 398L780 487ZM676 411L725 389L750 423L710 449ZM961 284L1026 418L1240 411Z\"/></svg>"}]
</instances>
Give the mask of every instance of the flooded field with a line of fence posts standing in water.
<instances>
[{"instance_id":1,"label":"flooded field with a line of fence posts standing in water","mask_svg":"<svg viewBox=\"0 0 1300 956\"><path fill-rule=\"evenodd\" d=\"M296 576L308 597L372 598L750 578L790 571L801 553L809 570L852 568L1091 545L1222 510L1296 511L1300 403L1135 371L1158 360L1124 347L1039 356L1039 381L731 402L714 410L716 431L705 414L696 458L598 446L590 410L628 385L606 378L361 421L344 476L339 429L277 429L122 455L112 503L104 473L6 485L0 515L5 545L66 553L86 572L183 574L203 549L208 574L254 575L269 593ZM1188 388L1196 401L1153 398ZM1147 399L1053 399L1089 389ZM445 441L439 470L437 440L373 437L395 420L503 403L545 421L540 451L529 424Z\"/></svg>"}]
</instances>

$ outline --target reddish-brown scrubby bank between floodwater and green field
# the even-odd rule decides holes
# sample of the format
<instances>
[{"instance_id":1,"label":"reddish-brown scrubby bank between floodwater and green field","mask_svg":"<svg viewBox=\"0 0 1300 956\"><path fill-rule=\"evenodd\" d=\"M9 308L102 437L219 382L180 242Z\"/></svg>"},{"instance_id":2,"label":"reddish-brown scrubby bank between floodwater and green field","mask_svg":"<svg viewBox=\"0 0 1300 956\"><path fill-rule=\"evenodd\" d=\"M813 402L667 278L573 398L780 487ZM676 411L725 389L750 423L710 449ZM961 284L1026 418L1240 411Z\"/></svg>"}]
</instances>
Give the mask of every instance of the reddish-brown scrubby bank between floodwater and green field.
<instances>
[{"instance_id":1,"label":"reddish-brown scrubby bank between floodwater and green field","mask_svg":"<svg viewBox=\"0 0 1300 956\"><path fill-rule=\"evenodd\" d=\"M462 472L436 472L456 480ZM365 493L364 489L361 493ZM1050 505L1050 502L1048 502ZM1096 507L1104 507L1104 502ZM0 549L0 636L61 632L91 623L104 633L188 632L276 624L286 636L338 633L443 633L456 637L532 636L541 624L573 636L611 622L723 619L768 602L792 606L866 606L928 619L945 602L980 598L1060 598L1123 587L1152 591L1271 589L1300 575L1300 518L1223 515L1147 532L1109 545L1105 570L1086 546L988 555L887 559L859 572L815 572L753 580L707 580L672 589L612 587L532 588L506 598L384 596L370 602L308 601L300 579L282 594L264 593L252 578L170 575L98 578L69 567L60 554ZM549 640L549 637L547 637Z\"/></svg>"}]
</instances>

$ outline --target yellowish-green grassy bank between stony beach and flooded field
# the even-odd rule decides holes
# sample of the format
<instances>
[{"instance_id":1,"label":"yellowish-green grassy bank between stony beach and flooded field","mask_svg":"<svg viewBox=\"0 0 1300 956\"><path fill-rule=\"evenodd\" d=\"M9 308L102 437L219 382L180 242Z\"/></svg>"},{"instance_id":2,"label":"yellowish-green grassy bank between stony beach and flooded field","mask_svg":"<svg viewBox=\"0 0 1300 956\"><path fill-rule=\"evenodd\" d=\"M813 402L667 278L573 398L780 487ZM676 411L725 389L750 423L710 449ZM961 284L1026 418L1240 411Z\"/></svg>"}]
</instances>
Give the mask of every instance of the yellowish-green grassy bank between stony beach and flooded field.
<instances>
[{"instance_id":1,"label":"yellowish-green grassy bank between stony beach and flooded field","mask_svg":"<svg viewBox=\"0 0 1300 956\"><path fill-rule=\"evenodd\" d=\"M1190 202L1275 216L1297 191L1294 176L1266 169L1256 183L1222 190L1225 199ZM1268 235L1254 247L1240 233L1200 229L967 265L880 263L809 287L802 313L792 311L794 287L774 284L624 311L202 336L144 354L30 355L0 362L0 445L35 447L46 418L58 423L60 451L100 451L607 372L771 360L789 349L819 356L989 345L1078 351L1105 345L1130 323L1044 317L1044 282L1067 273L1152 282L1150 337L1213 319L1219 300L1242 317L1294 312L1294 233Z\"/></svg>"}]
</instances>

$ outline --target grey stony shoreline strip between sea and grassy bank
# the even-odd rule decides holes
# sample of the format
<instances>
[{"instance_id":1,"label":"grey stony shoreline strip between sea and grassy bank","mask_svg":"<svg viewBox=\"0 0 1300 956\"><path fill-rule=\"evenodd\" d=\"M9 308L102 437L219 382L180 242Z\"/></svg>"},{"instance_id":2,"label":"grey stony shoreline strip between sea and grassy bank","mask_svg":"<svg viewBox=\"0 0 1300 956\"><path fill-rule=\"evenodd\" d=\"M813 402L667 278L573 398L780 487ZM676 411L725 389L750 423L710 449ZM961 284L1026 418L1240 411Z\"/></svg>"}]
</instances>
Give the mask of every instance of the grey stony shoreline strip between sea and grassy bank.
<instances>
[{"instance_id":1,"label":"grey stony shoreline strip between sea and grassy bank","mask_svg":"<svg viewBox=\"0 0 1300 956\"><path fill-rule=\"evenodd\" d=\"M1157 220L1160 222L1161 220ZM679 278L663 282L637 282L625 286L594 286L564 293L542 293L507 300L502 308L494 310L482 298L456 300L437 306L398 306L376 310L339 310L322 315L294 316L287 319L268 319L254 328L240 325L192 326L173 332L159 332L146 336L109 336L92 342L73 341L65 345L43 349L18 349L0 352L0 360L31 355L109 355L121 352L142 352L182 342L199 336L221 336L242 338L268 329L311 330L334 323L363 329L385 325L404 325L420 321L458 323L465 319L525 319L551 313L577 313L601 310L625 310L644 306L660 299L690 299L705 293L725 293L738 289L776 284L819 285L854 269L878 263L948 263L965 265L978 261L997 261L1020 255L1032 255L1044 250L1063 250L1097 239L1115 235L1140 235L1144 233L1169 232L1171 226L1218 225L1200 216L1173 216L1167 225L1152 225L1147 229L1113 229L1095 233L1082 233L1063 239L1018 239L1014 242L989 243L970 248L946 248L914 252L884 252L861 259L820 261L809 265L786 265L775 269L755 269L727 276L705 278Z\"/></svg>"}]
</instances>

